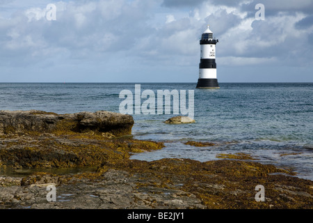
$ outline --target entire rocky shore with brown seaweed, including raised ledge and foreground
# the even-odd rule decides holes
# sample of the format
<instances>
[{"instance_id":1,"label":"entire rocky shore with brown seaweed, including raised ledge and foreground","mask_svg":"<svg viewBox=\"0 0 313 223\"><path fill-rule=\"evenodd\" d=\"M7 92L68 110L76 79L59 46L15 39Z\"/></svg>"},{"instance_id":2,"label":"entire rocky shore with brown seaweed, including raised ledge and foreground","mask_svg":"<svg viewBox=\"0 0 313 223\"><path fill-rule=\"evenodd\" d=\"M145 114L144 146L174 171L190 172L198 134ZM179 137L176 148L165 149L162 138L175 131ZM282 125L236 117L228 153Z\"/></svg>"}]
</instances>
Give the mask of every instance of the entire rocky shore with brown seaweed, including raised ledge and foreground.
<instances>
[{"instance_id":1,"label":"entire rocky shore with brown seaweed, including raised ledge and foreground","mask_svg":"<svg viewBox=\"0 0 313 223\"><path fill-rule=\"evenodd\" d=\"M311 180L244 154L130 160L163 148L133 139L133 125L131 116L113 112L1 111L0 208L312 209ZM48 185L56 187L56 201L47 201ZM264 201L255 200L257 185Z\"/></svg>"}]
</instances>

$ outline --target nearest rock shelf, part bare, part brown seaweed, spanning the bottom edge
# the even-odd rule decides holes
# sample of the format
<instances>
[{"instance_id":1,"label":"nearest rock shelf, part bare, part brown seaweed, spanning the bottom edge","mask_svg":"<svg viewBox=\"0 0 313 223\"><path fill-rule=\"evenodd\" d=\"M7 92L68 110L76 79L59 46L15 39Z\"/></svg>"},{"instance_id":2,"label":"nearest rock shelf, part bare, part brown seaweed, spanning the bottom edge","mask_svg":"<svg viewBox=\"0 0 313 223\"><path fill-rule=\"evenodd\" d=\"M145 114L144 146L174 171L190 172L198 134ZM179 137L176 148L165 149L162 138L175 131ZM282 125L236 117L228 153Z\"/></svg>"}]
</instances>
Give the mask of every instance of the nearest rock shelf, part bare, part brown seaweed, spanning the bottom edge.
<instances>
[{"instance_id":1,"label":"nearest rock shelf, part bare, part brown seaweed, spanning the bottom edge","mask_svg":"<svg viewBox=\"0 0 313 223\"><path fill-rule=\"evenodd\" d=\"M189 159L105 164L98 173L1 176L0 209L312 209L312 180L271 175L284 172L273 165ZM256 202L261 182L266 200ZM56 202L47 201L47 185L55 185Z\"/></svg>"}]
</instances>

